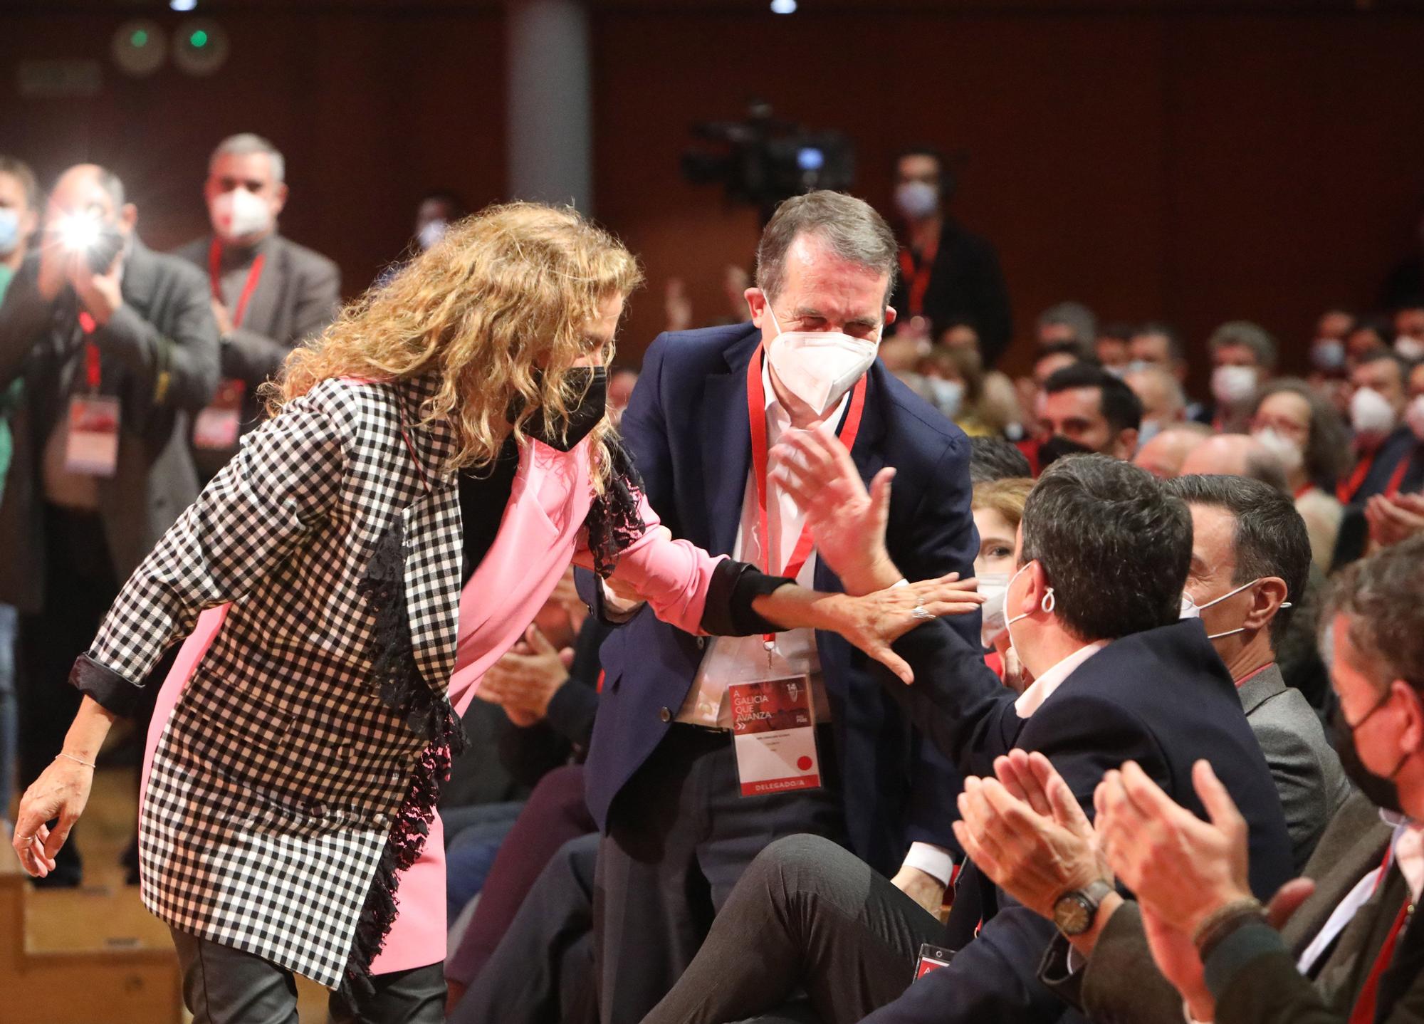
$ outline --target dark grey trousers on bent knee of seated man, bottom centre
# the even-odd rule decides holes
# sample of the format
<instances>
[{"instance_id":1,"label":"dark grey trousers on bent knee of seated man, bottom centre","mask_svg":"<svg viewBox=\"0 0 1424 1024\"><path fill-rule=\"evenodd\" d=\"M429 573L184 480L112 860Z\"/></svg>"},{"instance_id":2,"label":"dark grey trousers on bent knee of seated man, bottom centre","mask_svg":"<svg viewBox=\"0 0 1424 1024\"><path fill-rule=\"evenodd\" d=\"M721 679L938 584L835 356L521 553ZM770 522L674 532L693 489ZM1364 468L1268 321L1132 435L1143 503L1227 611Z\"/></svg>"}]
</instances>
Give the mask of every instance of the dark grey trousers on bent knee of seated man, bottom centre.
<instances>
[{"instance_id":1,"label":"dark grey trousers on bent knee of seated man, bottom centre","mask_svg":"<svg viewBox=\"0 0 1424 1024\"><path fill-rule=\"evenodd\" d=\"M852 1024L910 986L944 927L853 853L816 836L766 847L702 950L645 1024L722 1024L805 993L824 1024Z\"/></svg>"}]
</instances>

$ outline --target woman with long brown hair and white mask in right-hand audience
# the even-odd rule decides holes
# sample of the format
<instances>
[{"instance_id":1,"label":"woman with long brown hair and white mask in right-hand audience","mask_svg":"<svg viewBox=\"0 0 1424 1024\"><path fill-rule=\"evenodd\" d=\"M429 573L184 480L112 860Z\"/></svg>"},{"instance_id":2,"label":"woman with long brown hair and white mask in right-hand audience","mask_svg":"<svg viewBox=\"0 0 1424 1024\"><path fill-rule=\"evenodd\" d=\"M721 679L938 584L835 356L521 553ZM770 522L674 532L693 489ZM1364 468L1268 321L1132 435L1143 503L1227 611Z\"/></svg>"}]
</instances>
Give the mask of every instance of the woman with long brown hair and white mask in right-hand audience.
<instances>
[{"instance_id":1,"label":"woman with long brown hair and white mask in right-hand audience","mask_svg":"<svg viewBox=\"0 0 1424 1024\"><path fill-rule=\"evenodd\" d=\"M1310 534L1310 557L1327 573L1344 514L1334 497L1336 480L1351 463L1340 413L1304 380L1282 377L1256 393L1250 432L1280 459Z\"/></svg>"}]
</instances>

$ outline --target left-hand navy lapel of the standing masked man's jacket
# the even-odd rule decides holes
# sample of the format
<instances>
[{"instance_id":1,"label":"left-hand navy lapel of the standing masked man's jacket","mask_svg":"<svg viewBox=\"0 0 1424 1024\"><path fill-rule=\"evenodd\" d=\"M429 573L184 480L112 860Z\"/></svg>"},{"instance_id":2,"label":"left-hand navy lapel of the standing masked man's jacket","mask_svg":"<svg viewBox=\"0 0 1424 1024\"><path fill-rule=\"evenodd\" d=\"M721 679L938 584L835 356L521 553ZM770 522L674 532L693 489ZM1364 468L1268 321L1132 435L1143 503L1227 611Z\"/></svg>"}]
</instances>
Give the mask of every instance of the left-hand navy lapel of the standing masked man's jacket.
<instances>
[{"instance_id":1,"label":"left-hand navy lapel of the standing masked man's jacket","mask_svg":"<svg viewBox=\"0 0 1424 1024\"><path fill-rule=\"evenodd\" d=\"M731 554L742 523L742 497L752 467L752 427L746 419L746 366L762 335L752 329L726 353L728 372L706 377L702 409L702 486L708 516L708 550Z\"/></svg>"}]
</instances>

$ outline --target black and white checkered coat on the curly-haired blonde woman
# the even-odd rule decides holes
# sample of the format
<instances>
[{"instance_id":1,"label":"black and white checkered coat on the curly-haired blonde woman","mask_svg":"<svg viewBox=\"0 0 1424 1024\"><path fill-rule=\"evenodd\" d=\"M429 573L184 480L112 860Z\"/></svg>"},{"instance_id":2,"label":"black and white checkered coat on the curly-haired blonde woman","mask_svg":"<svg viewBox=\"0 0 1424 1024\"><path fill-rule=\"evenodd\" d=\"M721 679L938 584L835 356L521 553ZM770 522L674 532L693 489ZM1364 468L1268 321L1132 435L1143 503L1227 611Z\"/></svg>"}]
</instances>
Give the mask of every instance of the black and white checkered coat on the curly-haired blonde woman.
<instances>
[{"instance_id":1,"label":"black and white checkered coat on the curly-haired blonde woman","mask_svg":"<svg viewBox=\"0 0 1424 1024\"><path fill-rule=\"evenodd\" d=\"M142 679L204 608L232 602L154 755L142 897L177 929L328 987L424 746L369 682L375 624L356 590L394 516L422 675L444 685L454 669L460 506L436 471L451 439L443 424L402 439L433 389L329 380L248 434L90 652Z\"/></svg>"}]
</instances>

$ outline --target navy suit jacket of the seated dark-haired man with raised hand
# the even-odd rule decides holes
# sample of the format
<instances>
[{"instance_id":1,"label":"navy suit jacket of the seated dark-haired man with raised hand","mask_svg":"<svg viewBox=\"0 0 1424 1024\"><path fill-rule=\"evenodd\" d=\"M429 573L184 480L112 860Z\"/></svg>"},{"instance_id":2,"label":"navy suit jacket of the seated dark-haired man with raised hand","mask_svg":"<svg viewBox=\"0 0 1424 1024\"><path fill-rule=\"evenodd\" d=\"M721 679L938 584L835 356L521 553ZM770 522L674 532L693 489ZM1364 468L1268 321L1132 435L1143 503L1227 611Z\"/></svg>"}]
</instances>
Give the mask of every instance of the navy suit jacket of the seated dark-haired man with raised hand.
<instances>
[{"instance_id":1,"label":"navy suit jacket of the seated dark-haired man with raised hand","mask_svg":"<svg viewBox=\"0 0 1424 1024\"><path fill-rule=\"evenodd\" d=\"M1206 758L1249 825L1252 890L1266 900L1294 876L1270 769L1200 620L1114 641L1027 719L978 652L943 622L906 634L896 651L916 682L906 686L884 674L884 685L965 775L993 775L994 758L1014 746L1041 751L1091 817L1102 775L1131 759L1205 819L1192 765ZM960 874L947 933L946 944L958 950L950 966L916 981L866 1024L1081 1020L1038 980L1054 926L973 864Z\"/></svg>"}]
</instances>

